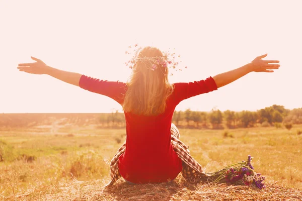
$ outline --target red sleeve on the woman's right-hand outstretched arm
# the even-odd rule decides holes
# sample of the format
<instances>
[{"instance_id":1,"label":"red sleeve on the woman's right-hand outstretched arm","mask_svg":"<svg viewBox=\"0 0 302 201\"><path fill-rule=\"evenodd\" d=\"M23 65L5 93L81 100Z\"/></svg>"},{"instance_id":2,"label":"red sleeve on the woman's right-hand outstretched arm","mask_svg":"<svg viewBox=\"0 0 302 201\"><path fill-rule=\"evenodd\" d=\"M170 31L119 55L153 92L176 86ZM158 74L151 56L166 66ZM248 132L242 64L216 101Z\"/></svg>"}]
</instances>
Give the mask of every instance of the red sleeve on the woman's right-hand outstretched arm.
<instances>
[{"instance_id":1,"label":"red sleeve on the woman's right-hand outstretched arm","mask_svg":"<svg viewBox=\"0 0 302 201\"><path fill-rule=\"evenodd\" d=\"M184 99L213 90L217 90L217 85L214 79L209 77L200 81L175 83L173 95L175 101L179 104Z\"/></svg>"}]
</instances>

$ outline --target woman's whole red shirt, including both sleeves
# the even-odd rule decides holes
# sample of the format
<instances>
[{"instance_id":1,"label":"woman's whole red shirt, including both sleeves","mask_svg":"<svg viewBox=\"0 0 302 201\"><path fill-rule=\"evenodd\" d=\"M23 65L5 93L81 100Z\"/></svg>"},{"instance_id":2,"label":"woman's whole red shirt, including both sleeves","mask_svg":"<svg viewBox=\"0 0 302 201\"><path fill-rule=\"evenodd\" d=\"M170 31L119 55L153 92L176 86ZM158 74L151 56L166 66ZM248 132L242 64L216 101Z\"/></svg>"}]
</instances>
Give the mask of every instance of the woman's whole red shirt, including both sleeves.
<instances>
[{"instance_id":1,"label":"woman's whole red shirt, including both sleeves","mask_svg":"<svg viewBox=\"0 0 302 201\"><path fill-rule=\"evenodd\" d=\"M82 75L79 85L86 90L113 98L123 103L126 83L107 81ZM217 90L212 77L205 80L175 83L167 99L167 108L159 116L125 113L126 149L119 158L119 171L133 183L158 183L176 178L182 161L171 145L171 123L175 107L184 99Z\"/></svg>"}]
</instances>

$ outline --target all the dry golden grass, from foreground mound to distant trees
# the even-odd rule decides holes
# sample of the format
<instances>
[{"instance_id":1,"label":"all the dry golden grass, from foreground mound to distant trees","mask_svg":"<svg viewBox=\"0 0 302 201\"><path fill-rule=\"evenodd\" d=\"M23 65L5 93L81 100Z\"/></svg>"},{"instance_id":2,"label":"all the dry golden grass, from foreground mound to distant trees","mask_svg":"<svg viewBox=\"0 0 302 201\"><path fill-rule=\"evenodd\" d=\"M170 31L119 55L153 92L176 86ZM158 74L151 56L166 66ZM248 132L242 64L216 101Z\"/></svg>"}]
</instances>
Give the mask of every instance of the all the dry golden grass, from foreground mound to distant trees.
<instances>
[{"instance_id":1,"label":"all the dry golden grass, from foreground mound to distant trees","mask_svg":"<svg viewBox=\"0 0 302 201\"><path fill-rule=\"evenodd\" d=\"M301 200L301 126L223 131L181 129L181 140L206 172L254 156L268 187L204 187L179 177L172 183L108 189L108 162L125 140L124 129L28 128L0 132L0 199L5 200ZM275 182L278 182L276 185ZM289 188L295 187L295 188ZM287 199L286 199L287 198Z\"/></svg>"}]
</instances>

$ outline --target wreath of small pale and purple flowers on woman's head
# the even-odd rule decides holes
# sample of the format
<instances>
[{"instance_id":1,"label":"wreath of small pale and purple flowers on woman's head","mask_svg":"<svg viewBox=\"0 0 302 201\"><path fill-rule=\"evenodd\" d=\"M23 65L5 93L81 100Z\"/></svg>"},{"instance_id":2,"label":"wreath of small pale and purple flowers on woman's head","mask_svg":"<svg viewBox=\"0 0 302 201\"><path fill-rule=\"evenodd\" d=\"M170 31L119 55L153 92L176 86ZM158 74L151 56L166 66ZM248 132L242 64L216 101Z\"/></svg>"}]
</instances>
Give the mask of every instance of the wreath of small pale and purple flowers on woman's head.
<instances>
[{"instance_id":1,"label":"wreath of small pale and purple flowers on woman's head","mask_svg":"<svg viewBox=\"0 0 302 201\"><path fill-rule=\"evenodd\" d=\"M128 47L129 49L132 48L132 46ZM137 61L141 61L145 64L147 64L146 66L150 69L150 70L156 70L159 67L163 67L163 68L172 68L175 69L176 71L182 71L181 68L177 68L178 64L182 61L175 61L175 58L180 58L180 55L178 55L176 57L176 53L170 53L169 51L163 52L163 56L162 57L138 57L140 50L142 49L142 47L139 47L138 44L134 45L134 49L133 50L129 50L129 51L125 51L125 54L127 55L132 55L131 59L128 60L127 62L125 62L125 65L128 66L130 69L133 68L133 66L136 64ZM170 48L169 48L170 49ZM175 48L173 49L175 50ZM130 53L133 52L133 53ZM187 68L187 66L185 66L185 68ZM171 73L171 75L173 75L173 73Z\"/></svg>"}]
</instances>

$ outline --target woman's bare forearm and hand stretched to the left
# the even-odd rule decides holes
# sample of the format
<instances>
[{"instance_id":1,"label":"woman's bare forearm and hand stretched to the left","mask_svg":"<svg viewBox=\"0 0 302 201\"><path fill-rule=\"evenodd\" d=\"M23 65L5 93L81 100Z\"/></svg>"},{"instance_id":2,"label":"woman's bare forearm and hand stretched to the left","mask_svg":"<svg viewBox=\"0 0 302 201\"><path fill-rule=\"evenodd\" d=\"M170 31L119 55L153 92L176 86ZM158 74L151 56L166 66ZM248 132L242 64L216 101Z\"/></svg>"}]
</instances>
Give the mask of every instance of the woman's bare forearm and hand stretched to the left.
<instances>
[{"instance_id":1,"label":"woman's bare forearm and hand stretched to the left","mask_svg":"<svg viewBox=\"0 0 302 201\"><path fill-rule=\"evenodd\" d=\"M80 73L67 72L47 66L43 61L35 57L31 57L35 63L20 63L18 69L31 74L47 74L66 83L79 86L79 81L82 76Z\"/></svg>"}]
</instances>

